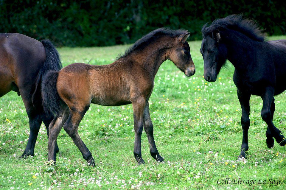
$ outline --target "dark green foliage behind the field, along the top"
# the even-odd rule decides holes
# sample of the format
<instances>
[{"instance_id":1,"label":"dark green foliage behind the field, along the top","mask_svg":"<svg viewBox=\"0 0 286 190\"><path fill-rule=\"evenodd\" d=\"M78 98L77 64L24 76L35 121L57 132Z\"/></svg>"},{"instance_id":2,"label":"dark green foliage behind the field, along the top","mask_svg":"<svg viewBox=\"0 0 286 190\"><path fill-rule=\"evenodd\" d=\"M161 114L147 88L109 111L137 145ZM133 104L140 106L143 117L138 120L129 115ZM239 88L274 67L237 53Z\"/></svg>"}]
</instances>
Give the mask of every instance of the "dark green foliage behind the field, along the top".
<instances>
[{"instance_id":1,"label":"dark green foliage behind the field, along the top","mask_svg":"<svg viewBox=\"0 0 286 190\"><path fill-rule=\"evenodd\" d=\"M216 18L244 13L268 35L286 34L284 1L0 0L0 32L17 32L57 46L133 43L158 27L184 28L189 40Z\"/></svg>"}]
</instances>

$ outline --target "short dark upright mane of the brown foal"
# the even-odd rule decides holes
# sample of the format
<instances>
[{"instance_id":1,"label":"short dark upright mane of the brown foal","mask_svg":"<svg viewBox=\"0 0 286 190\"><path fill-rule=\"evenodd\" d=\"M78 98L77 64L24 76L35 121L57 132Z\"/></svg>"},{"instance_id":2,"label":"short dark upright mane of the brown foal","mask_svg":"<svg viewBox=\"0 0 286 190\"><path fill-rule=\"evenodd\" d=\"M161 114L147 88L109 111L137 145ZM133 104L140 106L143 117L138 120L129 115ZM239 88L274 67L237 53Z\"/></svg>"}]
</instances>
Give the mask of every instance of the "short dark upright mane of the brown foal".
<instances>
[{"instance_id":1,"label":"short dark upright mane of the brown foal","mask_svg":"<svg viewBox=\"0 0 286 190\"><path fill-rule=\"evenodd\" d=\"M132 46L130 46L124 54L119 54L117 56L117 60L119 60L122 57L126 57L130 55L133 52L138 52L142 49L144 49L146 46L148 46L150 43L155 41L158 38L161 38L163 36L169 36L171 38L178 37L179 35L186 34L187 30L172 30L169 28L158 28L156 30L153 30L152 32L148 33L147 35L144 35L142 38L137 40Z\"/></svg>"}]
</instances>

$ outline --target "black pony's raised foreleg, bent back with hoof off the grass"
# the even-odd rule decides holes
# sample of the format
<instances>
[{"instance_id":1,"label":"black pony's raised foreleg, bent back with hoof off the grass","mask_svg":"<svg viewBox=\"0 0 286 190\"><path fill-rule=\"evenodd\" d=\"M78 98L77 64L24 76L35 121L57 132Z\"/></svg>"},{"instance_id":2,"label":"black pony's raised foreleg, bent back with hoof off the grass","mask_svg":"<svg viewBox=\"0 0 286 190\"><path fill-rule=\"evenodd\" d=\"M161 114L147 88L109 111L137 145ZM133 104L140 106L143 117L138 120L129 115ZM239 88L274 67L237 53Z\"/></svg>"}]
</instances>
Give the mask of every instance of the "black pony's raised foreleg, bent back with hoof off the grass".
<instances>
[{"instance_id":1,"label":"black pony's raised foreleg, bent back with hoof off the grass","mask_svg":"<svg viewBox=\"0 0 286 190\"><path fill-rule=\"evenodd\" d=\"M268 87L266 88L265 92L263 93L263 106L261 110L261 117L263 121L266 122L271 135L275 138L276 142L279 143L280 146L285 146L286 140L283 135L281 135L281 131L277 129L273 122L273 116L271 115L271 105L273 103L273 95L274 95L274 88Z\"/></svg>"}]
</instances>

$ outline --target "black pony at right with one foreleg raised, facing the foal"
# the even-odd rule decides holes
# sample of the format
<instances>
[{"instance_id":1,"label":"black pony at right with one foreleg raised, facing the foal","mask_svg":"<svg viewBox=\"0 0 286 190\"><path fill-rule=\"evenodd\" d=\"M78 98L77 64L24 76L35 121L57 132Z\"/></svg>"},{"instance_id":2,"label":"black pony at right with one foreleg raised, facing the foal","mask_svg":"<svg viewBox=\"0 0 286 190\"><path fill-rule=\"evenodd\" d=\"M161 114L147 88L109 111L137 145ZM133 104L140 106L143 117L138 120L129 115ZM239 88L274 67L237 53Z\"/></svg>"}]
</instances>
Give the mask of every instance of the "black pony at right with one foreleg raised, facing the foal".
<instances>
[{"instance_id":1,"label":"black pony at right with one foreleg raised, facing the foal","mask_svg":"<svg viewBox=\"0 0 286 190\"><path fill-rule=\"evenodd\" d=\"M234 65L233 81L241 105L243 138L239 158L248 150L249 99L261 96L262 119L267 123L266 144L274 146L273 137L280 146L286 140L272 120L275 111L274 97L286 89L286 40L266 41L257 24L242 15L230 15L203 26L200 52L204 61L204 78L217 79L222 66L229 60Z\"/></svg>"}]
</instances>

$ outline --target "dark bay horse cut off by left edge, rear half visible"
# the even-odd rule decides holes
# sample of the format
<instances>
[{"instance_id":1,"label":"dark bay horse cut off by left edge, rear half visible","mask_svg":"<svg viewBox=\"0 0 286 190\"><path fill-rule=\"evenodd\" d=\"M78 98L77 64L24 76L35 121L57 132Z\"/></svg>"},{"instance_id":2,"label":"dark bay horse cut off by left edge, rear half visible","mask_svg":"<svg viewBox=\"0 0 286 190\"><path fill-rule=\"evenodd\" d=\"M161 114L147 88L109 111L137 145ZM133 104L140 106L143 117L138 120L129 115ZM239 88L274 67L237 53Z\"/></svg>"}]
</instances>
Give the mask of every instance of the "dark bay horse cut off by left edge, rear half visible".
<instances>
[{"instance_id":1,"label":"dark bay horse cut off by left edge, rear half visible","mask_svg":"<svg viewBox=\"0 0 286 190\"><path fill-rule=\"evenodd\" d=\"M17 92L29 117L30 135L22 158L34 155L42 122L49 136L48 127L54 116L43 112L41 81L46 71L58 71L60 68L59 54L49 40L39 42L22 34L0 34L0 97L9 91Z\"/></svg>"}]
</instances>

